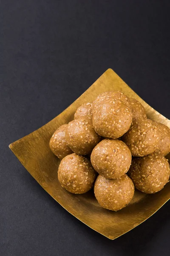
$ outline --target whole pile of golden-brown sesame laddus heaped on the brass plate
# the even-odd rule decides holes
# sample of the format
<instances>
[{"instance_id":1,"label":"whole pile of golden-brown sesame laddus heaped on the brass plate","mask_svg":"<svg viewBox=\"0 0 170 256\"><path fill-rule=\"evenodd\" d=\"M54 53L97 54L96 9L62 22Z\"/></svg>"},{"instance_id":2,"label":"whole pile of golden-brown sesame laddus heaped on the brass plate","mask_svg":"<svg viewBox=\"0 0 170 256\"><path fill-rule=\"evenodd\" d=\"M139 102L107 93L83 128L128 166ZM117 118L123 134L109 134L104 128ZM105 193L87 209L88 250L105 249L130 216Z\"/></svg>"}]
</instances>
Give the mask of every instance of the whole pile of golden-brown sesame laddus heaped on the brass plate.
<instances>
[{"instance_id":1,"label":"whole pile of golden-brown sesame laddus heaped on the brass plate","mask_svg":"<svg viewBox=\"0 0 170 256\"><path fill-rule=\"evenodd\" d=\"M156 193L170 177L164 157L170 152L170 129L147 119L142 104L120 91L81 105L74 120L54 132L50 148L62 159L61 186L74 194L94 186L99 204L113 211L130 203L134 188Z\"/></svg>"}]
</instances>

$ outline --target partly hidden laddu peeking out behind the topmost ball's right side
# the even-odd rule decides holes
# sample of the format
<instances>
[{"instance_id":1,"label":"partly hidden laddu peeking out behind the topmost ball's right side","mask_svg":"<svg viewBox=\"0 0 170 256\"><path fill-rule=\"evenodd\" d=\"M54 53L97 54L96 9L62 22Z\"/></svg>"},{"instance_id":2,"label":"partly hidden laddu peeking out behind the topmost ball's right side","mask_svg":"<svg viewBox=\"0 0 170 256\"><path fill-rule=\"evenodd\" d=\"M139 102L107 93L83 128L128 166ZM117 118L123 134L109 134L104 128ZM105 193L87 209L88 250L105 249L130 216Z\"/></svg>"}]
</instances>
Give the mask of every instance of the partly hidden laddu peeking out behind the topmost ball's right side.
<instances>
[{"instance_id":1,"label":"partly hidden laddu peeking out behind the topmost ball's right side","mask_svg":"<svg viewBox=\"0 0 170 256\"><path fill-rule=\"evenodd\" d=\"M136 99L130 98L133 118L147 118L144 106Z\"/></svg>"}]
</instances>

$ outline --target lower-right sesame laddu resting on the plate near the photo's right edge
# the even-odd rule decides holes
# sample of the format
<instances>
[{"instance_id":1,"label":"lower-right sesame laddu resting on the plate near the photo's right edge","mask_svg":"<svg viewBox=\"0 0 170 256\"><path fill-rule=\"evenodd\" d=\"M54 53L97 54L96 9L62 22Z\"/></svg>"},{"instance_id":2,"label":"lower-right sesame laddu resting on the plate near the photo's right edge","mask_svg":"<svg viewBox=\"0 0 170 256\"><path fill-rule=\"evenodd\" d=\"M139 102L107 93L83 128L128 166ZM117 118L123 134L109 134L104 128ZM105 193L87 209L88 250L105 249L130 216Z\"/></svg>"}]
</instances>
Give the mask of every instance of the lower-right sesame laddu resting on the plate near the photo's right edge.
<instances>
[{"instance_id":1,"label":"lower-right sesame laddu resting on the plate near the photo's right edge","mask_svg":"<svg viewBox=\"0 0 170 256\"><path fill-rule=\"evenodd\" d=\"M133 159L128 174L136 189L153 194L163 189L168 182L170 166L164 156L152 153Z\"/></svg>"}]
</instances>

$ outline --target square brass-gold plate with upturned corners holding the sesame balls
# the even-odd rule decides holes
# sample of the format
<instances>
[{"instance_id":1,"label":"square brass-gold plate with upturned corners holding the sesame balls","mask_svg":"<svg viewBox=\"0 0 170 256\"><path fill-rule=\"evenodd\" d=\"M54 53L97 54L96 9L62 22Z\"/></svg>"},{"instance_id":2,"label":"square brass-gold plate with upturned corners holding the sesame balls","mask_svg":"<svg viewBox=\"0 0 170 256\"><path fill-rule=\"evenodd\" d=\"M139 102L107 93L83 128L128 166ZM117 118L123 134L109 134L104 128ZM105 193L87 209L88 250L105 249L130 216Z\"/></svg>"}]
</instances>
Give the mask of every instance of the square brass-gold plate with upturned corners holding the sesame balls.
<instances>
[{"instance_id":1,"label":"square brass-gold plate with upturned corners holding the sesame balls","mask_svg":"<svg viewBox=\"0 0 170 256\"><path fill-rule=\"evenodd\" d=\"M43 189L62 207L102 235L116 239L141 224L170 199L170 183L154 195L136 191L127 207L112 212L99 206L92 190L74 195L62 188L57 179L60 160L49 148L49 140L54 131L60 125L70 122L82 103L92 102L99 93L109 90L121 90L127 96L139 100L144 105L148 118L170 127L170 120L151 108L113 70L108 69L65 111L37 131L11 143L9 147ZM170 160L170 154L167 158Z\"/></svg>"}]
</instances>

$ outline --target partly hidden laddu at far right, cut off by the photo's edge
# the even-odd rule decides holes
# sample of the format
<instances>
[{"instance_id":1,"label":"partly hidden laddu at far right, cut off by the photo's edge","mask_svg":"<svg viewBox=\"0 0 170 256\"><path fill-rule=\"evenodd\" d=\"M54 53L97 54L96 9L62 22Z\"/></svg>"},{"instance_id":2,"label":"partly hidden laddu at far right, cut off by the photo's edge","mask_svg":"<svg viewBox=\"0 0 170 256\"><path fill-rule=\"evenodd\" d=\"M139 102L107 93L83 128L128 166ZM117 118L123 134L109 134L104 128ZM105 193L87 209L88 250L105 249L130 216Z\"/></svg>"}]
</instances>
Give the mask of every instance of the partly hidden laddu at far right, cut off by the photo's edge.
<instances>
[{"instance_id":1,"label":"partly hidden laddu at far right, cut off by the photo's edge","mask_svg":"<svg viewBox=\"0 0 170 256\"><path fill-rule=\"evenodd\" d=\"M158 147L155 152L166 156L170 152L170 128L159 122L155 122L155 125L160 132Z\"/></svg>"}]
</instances>

